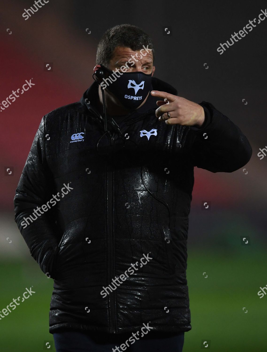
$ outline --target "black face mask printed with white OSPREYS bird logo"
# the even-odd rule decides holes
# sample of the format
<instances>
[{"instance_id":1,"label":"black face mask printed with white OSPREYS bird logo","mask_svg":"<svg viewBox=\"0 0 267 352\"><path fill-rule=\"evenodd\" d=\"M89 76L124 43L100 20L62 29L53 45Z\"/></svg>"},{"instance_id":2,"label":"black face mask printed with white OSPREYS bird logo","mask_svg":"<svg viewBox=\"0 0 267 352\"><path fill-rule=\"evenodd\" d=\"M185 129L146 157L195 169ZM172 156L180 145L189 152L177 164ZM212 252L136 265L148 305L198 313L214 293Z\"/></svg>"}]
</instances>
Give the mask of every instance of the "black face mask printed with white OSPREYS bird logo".
<instances>
[{"instance_id":1,"label":"black face mask printed with white OSPREYS bird logo","mask_svg":"<svg viewBox=\"0 0 267 352\"><path fill-rule=\"evenodd\" d=\"M107 71L109 76L103 79L100 86L113 93L124 107L135 110L147 98L152 73L150 75L143 72L113 73L103 65L101 68Z\"/></svg>"}]
</instances>

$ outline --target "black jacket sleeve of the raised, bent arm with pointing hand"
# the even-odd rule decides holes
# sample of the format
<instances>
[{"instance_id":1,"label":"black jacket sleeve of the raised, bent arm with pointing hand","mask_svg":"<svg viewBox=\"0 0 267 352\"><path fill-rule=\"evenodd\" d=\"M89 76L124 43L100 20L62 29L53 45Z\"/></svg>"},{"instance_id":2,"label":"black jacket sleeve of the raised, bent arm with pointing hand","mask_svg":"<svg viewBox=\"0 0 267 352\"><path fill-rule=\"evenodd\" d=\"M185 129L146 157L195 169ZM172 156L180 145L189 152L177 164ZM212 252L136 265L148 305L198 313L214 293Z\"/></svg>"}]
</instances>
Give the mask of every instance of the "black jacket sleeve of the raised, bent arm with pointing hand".
<instances>
[{"instance_id":1,"label":"black jacket sleeve of the raised, bent arm with pointing hand","mask_svg":"<svg viewBox=\"0 0 267 352\"><path fill-rule=\"evenodd\" d=\"M194 166L211 172L233 172L246 165L252 156L248 139L228 117L211 103L201 102L204 124L189 127L185 150Z\"/></svg>"}]
</instances>

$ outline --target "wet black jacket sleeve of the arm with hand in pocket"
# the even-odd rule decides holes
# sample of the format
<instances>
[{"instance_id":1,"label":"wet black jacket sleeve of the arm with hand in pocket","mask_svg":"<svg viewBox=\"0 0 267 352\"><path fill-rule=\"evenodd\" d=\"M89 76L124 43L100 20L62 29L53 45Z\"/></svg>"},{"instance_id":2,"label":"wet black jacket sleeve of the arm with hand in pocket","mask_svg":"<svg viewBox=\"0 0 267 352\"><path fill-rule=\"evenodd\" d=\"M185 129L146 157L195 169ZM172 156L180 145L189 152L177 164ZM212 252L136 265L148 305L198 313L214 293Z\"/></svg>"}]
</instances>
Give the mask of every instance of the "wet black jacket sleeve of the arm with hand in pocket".
<instances>
[{"instance_id":1,"label":"wet black jacket sleeve of the arm with hand in pocket","mask_svg":"<svg viewBox=\"0 0 267 352\"><path fill-rule=\"evenodd\" d=\"M53 220L53 207L50 205L49 209L42 206L46 205L53 194L53 178L45 158L43 117L16 189L14 208L15 222L31 256L42 271L51 277L52 261L57 247L56 224Z\"/></svg>"}]
</instances>

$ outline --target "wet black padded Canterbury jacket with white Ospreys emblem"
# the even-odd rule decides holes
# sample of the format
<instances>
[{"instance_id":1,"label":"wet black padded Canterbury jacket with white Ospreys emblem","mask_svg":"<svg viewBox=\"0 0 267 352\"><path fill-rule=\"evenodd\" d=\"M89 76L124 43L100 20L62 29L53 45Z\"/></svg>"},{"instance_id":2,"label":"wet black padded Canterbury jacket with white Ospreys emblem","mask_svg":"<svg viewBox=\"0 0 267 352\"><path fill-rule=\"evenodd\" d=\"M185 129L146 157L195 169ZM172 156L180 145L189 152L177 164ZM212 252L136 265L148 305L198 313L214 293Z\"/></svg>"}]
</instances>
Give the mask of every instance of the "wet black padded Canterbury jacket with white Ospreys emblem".
<instances>
[{"instance_id":1,"label":"wet black padded Canterbury jacket with white Ospreys emblem","mask_svg":"<svg viewBox=\"0 0 267 352\"><path fill-rule=\"evenodd\" d=\"M178 95L155 77L151 89ZM154 331L189 331L186 247L194 166L235 171L249 161L251 146L208 102L200 103L206 115L201 128L160 122L150 94L122 122L107 119L110 134L104 134L97 99L94 82L81 101L42 118L14 198L30 253L54 279L49 331L123 333L148 322ZM107 148L99 154L101 138ZM23 228L23 218L67 183L72 191ZM145 265L144 256L152 258Z\"/></svg>"}]
</instances>

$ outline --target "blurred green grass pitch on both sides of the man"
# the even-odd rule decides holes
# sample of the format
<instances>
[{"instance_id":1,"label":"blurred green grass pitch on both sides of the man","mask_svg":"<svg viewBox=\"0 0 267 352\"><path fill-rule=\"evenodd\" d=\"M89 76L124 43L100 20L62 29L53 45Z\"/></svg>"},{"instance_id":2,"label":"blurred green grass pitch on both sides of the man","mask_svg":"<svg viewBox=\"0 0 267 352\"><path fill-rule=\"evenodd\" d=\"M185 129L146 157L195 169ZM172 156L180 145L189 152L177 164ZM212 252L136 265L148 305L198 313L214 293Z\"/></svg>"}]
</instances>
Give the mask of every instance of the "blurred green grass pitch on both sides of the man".
<instances>
[{"instance_id":1,"label":"blurred green grass pitch on both sides of the man","mask_svg":"<svg viewBox=\"0 0 267 352\"><path fill-rule=\"evenodd\" d=\"M260 286L267 285L266 254L199 252L188 250L192 330L185 333L183 352L267 351L267 296L257 295ZM44 351L44 341L53 341L48 332L53 280L31 257L27 262L0 262L0 272L0 310L25 288L33 286L36 292L0 320L0 351ZM203 340L207 348L201 348Z\"/></svg>"}]
</instances>

